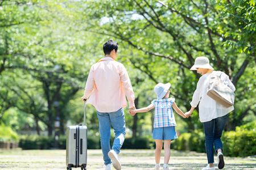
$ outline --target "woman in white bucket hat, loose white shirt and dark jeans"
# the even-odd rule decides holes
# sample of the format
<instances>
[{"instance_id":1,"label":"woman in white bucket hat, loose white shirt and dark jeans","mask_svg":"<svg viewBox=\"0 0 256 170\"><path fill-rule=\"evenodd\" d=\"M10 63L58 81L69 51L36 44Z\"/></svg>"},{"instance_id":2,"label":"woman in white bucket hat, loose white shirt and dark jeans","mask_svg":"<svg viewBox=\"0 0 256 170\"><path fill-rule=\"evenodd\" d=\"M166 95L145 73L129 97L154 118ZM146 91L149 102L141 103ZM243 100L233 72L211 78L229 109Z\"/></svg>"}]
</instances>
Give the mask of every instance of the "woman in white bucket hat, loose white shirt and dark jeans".
<instances>
[{"instance_id":1,"label":"woman in white bucket hat, loose white shirt and dark jeans","mask_svg":"<svg viewBox=\"0 0 256 170\"><path fill-rule=\"evenodd\" d=\"M224 168L224 156L222 154L222 142L221 134L224 129L228 113L234 110L234 107L226 108L223 105L216 103L211 97L207 95L207 88L209 85L210 75L215 74L220 77L221 81L224 82L233 91L236 90L234 85L229 79L229 76L221 71L213 71L213 67L209 64L207 57L197 57L195 65L190 70L197 70L197 73L201 74L199 81L197 82L196 91L193 94L191 101L191 109L187 113L190 116L193 110L199 104L199 118L200 122L204 125L205 133L205 150L207 152L208 165L202 168L202 170L210 170L214 168L214 151L217 154L218 168ZM215 150L213 150L213 145Z\"/></svg>"}]
</instances>

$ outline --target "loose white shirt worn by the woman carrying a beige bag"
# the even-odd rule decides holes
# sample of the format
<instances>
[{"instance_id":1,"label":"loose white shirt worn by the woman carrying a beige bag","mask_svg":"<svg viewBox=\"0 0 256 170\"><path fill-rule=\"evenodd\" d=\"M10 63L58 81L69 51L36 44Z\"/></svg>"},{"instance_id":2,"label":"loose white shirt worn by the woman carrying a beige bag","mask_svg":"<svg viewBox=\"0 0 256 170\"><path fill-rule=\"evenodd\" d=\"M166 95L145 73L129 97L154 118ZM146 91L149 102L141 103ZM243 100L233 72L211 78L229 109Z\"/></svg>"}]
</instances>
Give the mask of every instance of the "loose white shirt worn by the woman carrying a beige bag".
<instances>
[{"instance_id":1,"label":"loose white shirt worn by the woman carrying a beige bag","mask_svg":"<svg viewBox=\"0 0 256 170\"><path fill-rule=\"evenodd\" d=\"M191 106L197 107L199 104L199 118L200 122L208 122L214 118L225 116L229 112L234 110L234 107L226 108L223 105L217 103L211 97L207 95L207 88L209 85L209 78L211 74L220 76L221 81L226 84L231 90L235 91L233 83L230 81L229 76L221 71L213 71L212 73L204 74L197 82L196 91L193 94ZM200 102L200 103L199 103Z\"/></svg>"}]
</instances>

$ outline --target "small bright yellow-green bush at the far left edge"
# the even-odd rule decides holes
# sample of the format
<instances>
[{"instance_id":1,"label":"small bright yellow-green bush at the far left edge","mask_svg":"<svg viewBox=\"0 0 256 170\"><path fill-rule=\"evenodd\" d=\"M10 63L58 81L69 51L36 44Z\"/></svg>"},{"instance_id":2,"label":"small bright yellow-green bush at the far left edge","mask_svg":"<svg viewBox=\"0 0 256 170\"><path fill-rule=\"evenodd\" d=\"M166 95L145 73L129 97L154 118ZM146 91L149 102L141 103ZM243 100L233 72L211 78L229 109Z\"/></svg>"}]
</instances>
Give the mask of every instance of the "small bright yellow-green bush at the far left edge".
<instances>
[{"instance_id":1,"label":"small bright yellow-green bush at the far left edge","mask_svg":"<svg viewBox=\"0 0 256 170\"><path fill-rule=\"evenodd\" d=\"M18 142L19 136L10 127L0 125L0 141L1 142Z\"/></svg>"}]
</instances>

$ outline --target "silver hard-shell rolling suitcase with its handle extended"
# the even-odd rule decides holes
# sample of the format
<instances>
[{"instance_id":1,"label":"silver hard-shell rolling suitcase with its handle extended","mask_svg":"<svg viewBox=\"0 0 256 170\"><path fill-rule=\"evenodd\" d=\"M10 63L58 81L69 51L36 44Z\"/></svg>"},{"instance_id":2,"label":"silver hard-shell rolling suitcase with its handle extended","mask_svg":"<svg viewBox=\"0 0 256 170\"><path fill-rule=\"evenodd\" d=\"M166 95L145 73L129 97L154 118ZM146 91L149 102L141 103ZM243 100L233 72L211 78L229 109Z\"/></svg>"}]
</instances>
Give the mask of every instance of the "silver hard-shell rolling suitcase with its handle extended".
<instances>
[{"instance_id":1,"label":"silver hard-shell rolling suitcase with its handle extended","mask_svg":"<svg viewBox=\"0 0 256 170\"><path fill-rule=\"evenodd\" d=\"M86 102L84 102L83 125L67 127L66 164L67 170L81 167L86 170L87 164L87 127L86 127Z\"/></svg>"}]
</instances>

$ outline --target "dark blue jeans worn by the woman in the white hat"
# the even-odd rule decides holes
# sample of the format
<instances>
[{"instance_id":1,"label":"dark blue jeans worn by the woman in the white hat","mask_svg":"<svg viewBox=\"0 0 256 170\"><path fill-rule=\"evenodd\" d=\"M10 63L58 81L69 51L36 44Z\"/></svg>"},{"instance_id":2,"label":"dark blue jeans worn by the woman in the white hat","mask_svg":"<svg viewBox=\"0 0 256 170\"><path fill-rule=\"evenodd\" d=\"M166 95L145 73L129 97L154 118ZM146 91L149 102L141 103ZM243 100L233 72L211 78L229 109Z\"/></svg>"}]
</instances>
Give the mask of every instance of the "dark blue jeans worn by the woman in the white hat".
<instances>
[{"instance_id":1,"label":"dark blue jeans worn by the woman in the white hat","mask_svg":"<svg viewBox=\"0 0 256 170\"><path fill-rule=\"evenodd\" d=\"M227 118L228 114L203 123L205 134L205 150L207 152L208 163L214 163L213 145L215 147L216 153L218 149L223 150L221 135Z\"/></svg>"}]
</instances>

